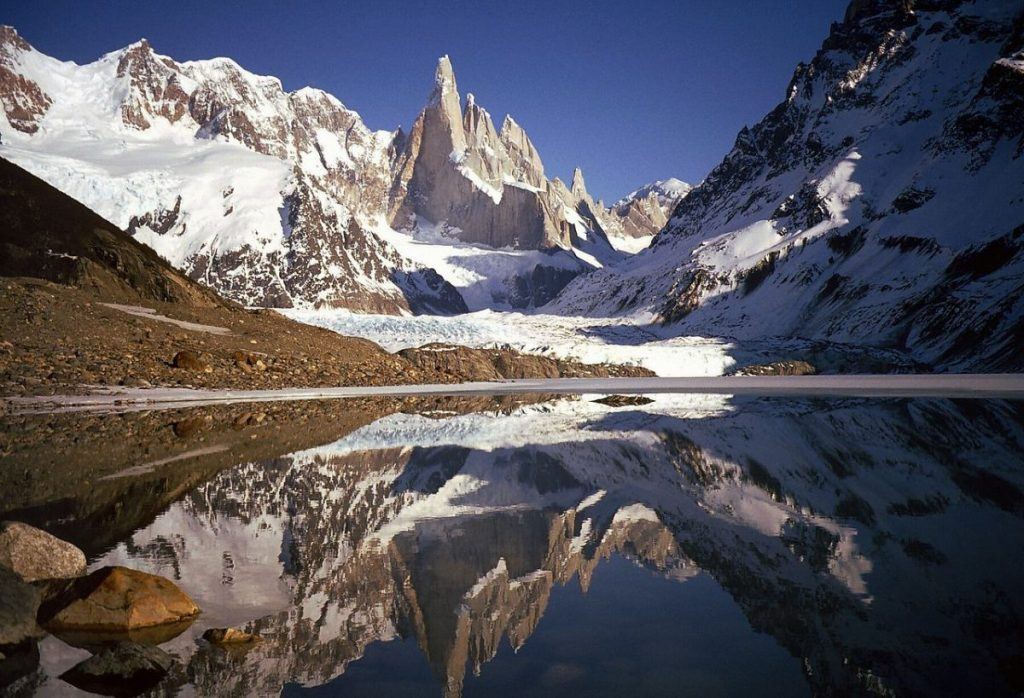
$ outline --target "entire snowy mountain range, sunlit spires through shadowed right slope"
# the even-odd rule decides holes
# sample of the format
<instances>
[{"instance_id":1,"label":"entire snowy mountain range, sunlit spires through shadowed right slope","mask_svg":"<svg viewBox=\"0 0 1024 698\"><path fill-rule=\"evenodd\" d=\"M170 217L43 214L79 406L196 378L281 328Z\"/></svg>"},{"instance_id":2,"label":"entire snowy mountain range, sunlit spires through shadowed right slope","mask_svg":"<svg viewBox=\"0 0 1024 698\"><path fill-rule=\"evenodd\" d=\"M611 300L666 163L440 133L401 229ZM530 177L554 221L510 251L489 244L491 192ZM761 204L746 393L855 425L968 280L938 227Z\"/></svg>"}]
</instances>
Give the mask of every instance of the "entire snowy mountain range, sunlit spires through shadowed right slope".
<instances>
[{"instance_id":1,"label":"entire snowy mountain range, sunlit spires through shadowed right slope","mask_svg":"<svg viewBox=\"0 0 1024 698\"><path fill-rule=\"evenodd\" d=\"M243 304L543 307L1024 368L1015 0L854 0L703 181L610 206L463 99L447 56L408 133L227 58L142 40L77 66L12 28L0 96L0 156Z\"/></svg>"}]
</instances>

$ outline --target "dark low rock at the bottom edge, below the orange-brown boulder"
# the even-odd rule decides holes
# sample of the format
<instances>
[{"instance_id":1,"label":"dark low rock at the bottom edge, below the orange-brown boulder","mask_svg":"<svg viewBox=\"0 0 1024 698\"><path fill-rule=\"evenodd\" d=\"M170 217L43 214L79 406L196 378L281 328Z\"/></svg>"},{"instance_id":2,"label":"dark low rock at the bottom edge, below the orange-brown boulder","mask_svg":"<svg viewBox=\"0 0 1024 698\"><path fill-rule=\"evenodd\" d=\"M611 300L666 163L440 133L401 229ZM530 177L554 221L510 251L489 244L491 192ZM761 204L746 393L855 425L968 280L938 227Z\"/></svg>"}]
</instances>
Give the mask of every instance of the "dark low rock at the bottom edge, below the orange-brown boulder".
<instances>
[{"instance_id":1,"label":"dark low rock at the bottom edge, below the orange-brown boulder","mask_svg":"<svg viewBox=\"0 0 1024 698\"><path fill-rule=\"evenodd\" d=\"M60 674L72 686L109 696L135 696L167 675L174 657L159 647L118 643Z\"/></svg>"}]
</instances>

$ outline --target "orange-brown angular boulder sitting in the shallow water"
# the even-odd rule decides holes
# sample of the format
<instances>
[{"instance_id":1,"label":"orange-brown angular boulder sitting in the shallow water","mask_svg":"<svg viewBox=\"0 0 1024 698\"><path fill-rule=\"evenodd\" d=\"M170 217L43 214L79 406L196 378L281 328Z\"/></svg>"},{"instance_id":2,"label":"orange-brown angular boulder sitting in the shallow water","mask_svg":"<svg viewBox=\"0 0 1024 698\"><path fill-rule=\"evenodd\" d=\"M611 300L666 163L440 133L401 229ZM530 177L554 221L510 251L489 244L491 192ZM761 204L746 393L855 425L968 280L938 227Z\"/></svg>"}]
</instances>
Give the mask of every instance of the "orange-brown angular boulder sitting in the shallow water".
<instances>
[{"instance_id":1,"label":"orange-brown angular boulder sitting in the shallow water","mask_svg":"<svg viewBox=\"0 0 1024 698\"><path fill-rule=\"evenodd\" d=\"M199 607L172 581L127 567L103 567L54 585L39 609L48 630L126 631L190 619Z\"/></svg>"}]
</instances>

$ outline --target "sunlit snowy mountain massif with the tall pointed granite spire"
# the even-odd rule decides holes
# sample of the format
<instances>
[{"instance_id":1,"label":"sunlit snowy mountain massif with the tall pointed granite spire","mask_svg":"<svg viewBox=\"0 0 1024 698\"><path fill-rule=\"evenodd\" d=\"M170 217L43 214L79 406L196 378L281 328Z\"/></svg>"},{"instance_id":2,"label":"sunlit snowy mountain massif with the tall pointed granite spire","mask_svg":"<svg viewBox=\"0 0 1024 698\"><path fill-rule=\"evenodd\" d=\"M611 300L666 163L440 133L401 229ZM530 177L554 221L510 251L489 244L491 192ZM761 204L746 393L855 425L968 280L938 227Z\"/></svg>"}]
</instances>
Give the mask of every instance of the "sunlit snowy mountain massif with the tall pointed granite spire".
<instances>
[{"instance_id":1,"label":"sunlit snowy mountain massif with the tall pointed granite spire","mask_svg":"<svg viewBox=\"0 0 1024 698\"><path fill-rule=\"evenodd\" d=\"M77 66L4 27L0 96L0 155L245 305L529 307L623 256L511 117L463 110L446 57L409 134L144 39Z\"/></svg>"}]
</instances>

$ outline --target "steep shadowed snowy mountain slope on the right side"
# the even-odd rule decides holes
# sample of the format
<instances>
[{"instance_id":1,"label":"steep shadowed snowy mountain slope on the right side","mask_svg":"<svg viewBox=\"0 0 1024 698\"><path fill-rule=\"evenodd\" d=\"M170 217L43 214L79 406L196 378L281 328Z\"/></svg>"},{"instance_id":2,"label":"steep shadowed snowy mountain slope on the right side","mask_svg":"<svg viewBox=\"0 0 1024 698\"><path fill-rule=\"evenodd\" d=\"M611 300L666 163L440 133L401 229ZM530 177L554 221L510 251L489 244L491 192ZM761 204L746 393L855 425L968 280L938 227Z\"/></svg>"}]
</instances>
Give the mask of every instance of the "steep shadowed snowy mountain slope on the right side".
<instances>
[{"instance_id":1,"label":"steep shadowed snowy mountain slope on the right side","mask_svg":"<svg viewBox=\"0 0 1024 698\"><path fill-rule=\"evenodd\" d=\"M853 2L649 251L549 306L1024 368L1024 9Z\"/></svg>"}]
</instances>

